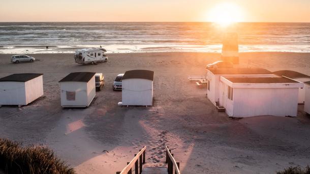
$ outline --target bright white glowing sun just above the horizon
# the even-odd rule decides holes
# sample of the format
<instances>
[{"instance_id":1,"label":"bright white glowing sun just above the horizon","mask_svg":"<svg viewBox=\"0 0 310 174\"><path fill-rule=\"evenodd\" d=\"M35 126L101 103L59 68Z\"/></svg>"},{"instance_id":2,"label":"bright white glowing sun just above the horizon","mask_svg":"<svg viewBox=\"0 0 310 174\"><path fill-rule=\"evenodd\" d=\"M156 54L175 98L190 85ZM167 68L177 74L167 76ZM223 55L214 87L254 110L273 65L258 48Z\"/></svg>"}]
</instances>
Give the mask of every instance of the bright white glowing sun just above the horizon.
<instances>
[{"instance_id":1,"label":"bright white glowing sun just above the horizon","mask_svg":"<svg viewBox=\"0 0 310 174\"><path fill-rule=\"evenodd\" d=\"M224 27L241 20L241 8L232 3L218 4L208 13L208 21L218 23Z\"/></svg>"}]
</instances>

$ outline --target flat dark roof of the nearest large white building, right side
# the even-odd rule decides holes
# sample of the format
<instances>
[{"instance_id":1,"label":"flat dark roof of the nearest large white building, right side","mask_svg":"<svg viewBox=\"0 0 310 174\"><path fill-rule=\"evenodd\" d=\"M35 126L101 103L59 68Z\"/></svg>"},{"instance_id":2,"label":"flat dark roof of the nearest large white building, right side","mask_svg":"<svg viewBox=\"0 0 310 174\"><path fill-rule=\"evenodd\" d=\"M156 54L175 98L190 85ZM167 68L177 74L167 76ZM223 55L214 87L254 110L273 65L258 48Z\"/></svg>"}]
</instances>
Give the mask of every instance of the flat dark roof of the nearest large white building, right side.
<instances>
[{"instance_id":1,"label":"flat dark roof of the nearest large white building, right side","mask_svg":"<svg viewBox=\"0 0 310 174\"><path fill-rule=\"evenodd\" d=\"M266 78L226 78L232 83L299 83L285 77L266 77Z\"/></svg>"}]
</instances>

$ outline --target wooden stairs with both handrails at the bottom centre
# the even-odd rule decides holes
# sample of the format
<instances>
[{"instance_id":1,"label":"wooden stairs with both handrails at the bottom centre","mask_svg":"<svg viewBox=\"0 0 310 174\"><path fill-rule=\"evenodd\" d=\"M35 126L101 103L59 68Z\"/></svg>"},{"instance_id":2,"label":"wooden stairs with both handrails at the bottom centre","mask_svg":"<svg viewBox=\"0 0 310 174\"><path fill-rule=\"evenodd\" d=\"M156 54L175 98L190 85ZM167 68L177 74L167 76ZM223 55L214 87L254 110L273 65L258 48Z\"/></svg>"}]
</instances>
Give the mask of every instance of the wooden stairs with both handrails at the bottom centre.
<instances>
[{"instance_id":1,"label":"wooden stairs with both handrails at the bottom centre","mask_svg":"<svg viewBox=\"0 0 310 174\"><path fill-rule=\"evenodd\" d=\"M135 154L135 157L127 163L127 166L123 168L121 171L117 171L116 174L132 174L133 168L135 174L181 174L180 172L180 163L175 162L175 159L173 158L173 154L171 154L171 150L166 148L166 167L144 167L143 164L145 164L145 150L146 146L143 147L139 151L138 154Z\"/></svg>"}]
</instances>

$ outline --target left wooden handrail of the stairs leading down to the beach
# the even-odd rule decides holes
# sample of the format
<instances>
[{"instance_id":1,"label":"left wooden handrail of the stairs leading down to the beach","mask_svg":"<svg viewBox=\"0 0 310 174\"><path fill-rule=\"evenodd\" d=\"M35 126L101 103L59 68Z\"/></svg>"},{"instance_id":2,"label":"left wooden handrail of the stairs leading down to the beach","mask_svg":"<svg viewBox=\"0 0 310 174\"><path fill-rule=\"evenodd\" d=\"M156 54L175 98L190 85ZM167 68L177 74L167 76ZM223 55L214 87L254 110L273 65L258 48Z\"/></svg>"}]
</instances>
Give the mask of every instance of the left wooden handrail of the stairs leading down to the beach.
<instances>
[{"instance_id":1,"label":"left wooden handrail of the stairs leading down to the beach","mask_svg":"<svg viewBox=\"0 0 310 174\"><path fill-rule=\"evenodd\" d=\"M143 149L141 149L139 151L138 154L135 154L135 157L129 162L127 163L127 166L125 168L123 168L120 172L117 171L116 174L131 174L132 173L132 168L135 167L135 173L138 174L138 160L140 159L140 172L142 172L142 163L145 163L145 150L146 150L146 146L143 147ZM142 159L143 157L143 159Z\"/></svg>"}]
</instances>

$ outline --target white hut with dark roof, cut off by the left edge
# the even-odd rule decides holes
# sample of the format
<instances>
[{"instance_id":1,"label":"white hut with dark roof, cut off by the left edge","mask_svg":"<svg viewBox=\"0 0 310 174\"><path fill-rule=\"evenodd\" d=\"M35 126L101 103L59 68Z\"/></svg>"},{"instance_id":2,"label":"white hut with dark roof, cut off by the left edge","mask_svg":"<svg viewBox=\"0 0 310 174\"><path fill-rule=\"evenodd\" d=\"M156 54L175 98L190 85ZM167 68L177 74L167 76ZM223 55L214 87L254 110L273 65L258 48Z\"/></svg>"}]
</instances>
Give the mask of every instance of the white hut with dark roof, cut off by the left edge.
<instances>
[{"instance_id":1,"label":"white hut with dark roof, cut off by the left edge","mask_svg":"<svg viewBox=\"0 0 310 174\"><path fill-rule=\"evenodd\" d=\"M28 105L43 95L43 74L12 74L0 79L0 105Z\"/></svg>"}]
</instances>

